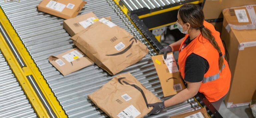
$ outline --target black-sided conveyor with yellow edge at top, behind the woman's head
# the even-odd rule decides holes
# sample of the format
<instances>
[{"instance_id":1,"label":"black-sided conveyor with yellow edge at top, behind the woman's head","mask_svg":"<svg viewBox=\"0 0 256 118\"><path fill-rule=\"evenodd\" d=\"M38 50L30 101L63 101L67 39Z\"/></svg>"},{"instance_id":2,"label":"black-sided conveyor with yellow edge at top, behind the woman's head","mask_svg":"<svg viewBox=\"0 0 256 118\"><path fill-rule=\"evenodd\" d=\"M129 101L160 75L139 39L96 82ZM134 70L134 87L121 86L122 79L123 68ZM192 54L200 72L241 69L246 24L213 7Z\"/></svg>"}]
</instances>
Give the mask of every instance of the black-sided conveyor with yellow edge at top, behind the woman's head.
<instances>
[{"instance_id":1,"label":"black-sided conveyor with yellow edge at top, behind the woman's head","mask_svg":"<svg viewBox=\"0 0 256 118\"><path fill-rule=\"evenodd\" d=\"M178 9L186 3L203 0L114 0L128 16L137 14L149 30L170 26L177 21Z\"/></svg>"}]
</instances>

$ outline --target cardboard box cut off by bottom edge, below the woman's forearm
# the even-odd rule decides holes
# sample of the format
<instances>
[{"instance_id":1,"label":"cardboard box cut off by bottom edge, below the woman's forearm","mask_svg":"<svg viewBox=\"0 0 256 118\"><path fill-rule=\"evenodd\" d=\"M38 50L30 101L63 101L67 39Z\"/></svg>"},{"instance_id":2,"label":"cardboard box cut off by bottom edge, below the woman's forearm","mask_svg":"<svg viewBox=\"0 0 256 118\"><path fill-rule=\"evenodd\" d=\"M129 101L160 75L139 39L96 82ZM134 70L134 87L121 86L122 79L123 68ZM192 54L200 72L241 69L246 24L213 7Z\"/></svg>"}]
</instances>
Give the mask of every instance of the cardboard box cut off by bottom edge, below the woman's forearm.
<instances>
[{"instance_id":1,"label":"cardboard box cut off by bottom edge, below the woman's forearm","mask_svg":"<svg viewBox=\"0 0 256 118\"><path fill-rule=\"evenodd\" d=\"M179 114L170 118L210 118L207 114L206 108L198 109L188 113Z\"/></svg>"}]
</instances>

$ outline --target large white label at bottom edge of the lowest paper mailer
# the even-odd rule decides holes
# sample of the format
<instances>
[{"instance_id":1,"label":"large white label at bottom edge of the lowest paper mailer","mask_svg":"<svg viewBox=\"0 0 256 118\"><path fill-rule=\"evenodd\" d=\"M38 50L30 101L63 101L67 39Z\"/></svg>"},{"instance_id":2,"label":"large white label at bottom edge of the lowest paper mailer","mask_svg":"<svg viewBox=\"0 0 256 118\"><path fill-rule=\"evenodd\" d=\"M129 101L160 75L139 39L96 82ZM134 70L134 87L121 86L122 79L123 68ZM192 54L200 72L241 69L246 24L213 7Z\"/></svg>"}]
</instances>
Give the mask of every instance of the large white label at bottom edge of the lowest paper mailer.
<instances>
[{"instance_id":1,"label":"large white label at bottom edge of the lowest paper mailer","mask_svg":"<svg viewBox=\"0 0 256 118\"><path fill-rule=\"evenodd\" d=\"M130 105L119 114L117 114L117 116L119 118L136 118L140 114L141 113L133 105Z\"/></svg>"}]
</instances>

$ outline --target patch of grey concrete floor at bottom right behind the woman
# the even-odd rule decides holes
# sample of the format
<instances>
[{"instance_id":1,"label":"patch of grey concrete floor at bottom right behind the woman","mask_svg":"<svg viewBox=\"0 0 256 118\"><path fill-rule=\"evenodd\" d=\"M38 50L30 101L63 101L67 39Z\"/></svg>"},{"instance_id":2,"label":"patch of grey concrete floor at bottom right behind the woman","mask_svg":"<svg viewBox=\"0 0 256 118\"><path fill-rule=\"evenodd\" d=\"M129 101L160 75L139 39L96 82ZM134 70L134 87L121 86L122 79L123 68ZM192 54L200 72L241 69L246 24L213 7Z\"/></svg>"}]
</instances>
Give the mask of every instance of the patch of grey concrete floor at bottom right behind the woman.
<instances>
[{"instance_id":1,"label":"patch of grey concrete floor at bottom right behind the woman","mask_svg":"<svg viewBox=\"0 0 256 118\"><path fill-rule=\"evenodd\" d=\"M219 113L223 118L254 118L249 105L227 108L223 102L220 106Z\"/></svg>"}]
</instances>

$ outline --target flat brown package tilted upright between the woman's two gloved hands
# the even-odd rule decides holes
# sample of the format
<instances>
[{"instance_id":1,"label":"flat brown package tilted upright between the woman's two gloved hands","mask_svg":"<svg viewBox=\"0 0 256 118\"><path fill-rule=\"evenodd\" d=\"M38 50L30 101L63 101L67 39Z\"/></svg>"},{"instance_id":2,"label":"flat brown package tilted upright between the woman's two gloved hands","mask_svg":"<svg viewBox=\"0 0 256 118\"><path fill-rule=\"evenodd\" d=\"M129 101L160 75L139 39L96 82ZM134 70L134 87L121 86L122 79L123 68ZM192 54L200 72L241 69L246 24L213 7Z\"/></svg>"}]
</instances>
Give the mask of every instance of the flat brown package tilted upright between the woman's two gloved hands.
<instances>
[{"instance_id":1,"label":"flat brown package tilted upright between the woman's two gloved hands","mask_svg":"<svg viewBox=\"0 0 256 118\"><path fill-rule=\"evenodd\" d=\"M152 56L151 58L155 65L156 72L165 97L177 94L186 88L177 68L173 53L169 53L167 55L168 60L164 60L163 55L156 55ZM172 63L169 67L167 67L169 62Z\"/></svg>"}]
</instances>

